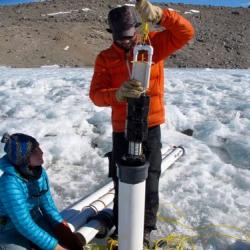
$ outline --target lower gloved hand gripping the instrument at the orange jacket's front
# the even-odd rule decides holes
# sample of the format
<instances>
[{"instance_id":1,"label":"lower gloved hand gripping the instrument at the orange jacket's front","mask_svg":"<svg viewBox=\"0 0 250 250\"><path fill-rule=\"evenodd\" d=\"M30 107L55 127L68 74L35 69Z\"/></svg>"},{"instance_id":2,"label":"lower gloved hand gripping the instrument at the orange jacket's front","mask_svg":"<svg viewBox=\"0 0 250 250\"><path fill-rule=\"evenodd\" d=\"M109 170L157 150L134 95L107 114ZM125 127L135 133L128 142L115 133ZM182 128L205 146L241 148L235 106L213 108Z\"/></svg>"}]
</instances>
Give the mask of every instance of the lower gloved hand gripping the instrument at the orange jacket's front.
<instances>
[{"instance_id":1,"label":"lower gloved hand gripping the instrument at the orange jacket's front","mask_svg":"<svg viewBox=\"0 0 250 250\"><path fill-rule=\"evenodd\" d=\"M118 102L126 101L128 97L139 98L144 92L141 82L137 80L125 81L116 91L115 97Z\"/></svg>"}]
</instances>

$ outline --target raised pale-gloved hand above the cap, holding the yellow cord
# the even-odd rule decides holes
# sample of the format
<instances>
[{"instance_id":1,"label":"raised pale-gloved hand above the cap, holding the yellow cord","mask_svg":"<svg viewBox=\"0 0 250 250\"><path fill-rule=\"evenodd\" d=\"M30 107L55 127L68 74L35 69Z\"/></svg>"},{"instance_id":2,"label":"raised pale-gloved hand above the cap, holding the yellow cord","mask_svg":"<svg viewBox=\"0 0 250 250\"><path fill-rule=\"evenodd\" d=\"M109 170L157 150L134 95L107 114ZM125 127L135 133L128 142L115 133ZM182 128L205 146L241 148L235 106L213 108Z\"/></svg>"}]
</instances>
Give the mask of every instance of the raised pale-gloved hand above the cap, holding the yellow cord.
<instances>
[{"instance_id":1,"label":"raised pale-gloved hand above the cap, holding the yellow cord","mask_svg":"<svg viewBox=\"0 0 250 250\"><path fill-rule=\"evenodd\" d=\"M159 23L162 18L162 9L151 4L148 0L137 0L136 9L145 22Z\"/></svg>"}]
</instances>

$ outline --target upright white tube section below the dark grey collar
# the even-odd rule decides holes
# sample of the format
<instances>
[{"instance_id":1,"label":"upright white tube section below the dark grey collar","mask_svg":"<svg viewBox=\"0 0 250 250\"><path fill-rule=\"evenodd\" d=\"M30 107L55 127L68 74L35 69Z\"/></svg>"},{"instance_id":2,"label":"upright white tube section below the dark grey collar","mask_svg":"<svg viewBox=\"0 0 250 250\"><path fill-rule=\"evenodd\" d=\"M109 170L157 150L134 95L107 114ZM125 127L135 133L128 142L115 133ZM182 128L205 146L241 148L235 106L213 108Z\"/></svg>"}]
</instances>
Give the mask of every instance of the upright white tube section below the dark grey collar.
<instances>
[{"instance_id":1,"label":"upright white tube section below the dark grey collar","mask_svg":"<svg viewBox=\"0 0 250 250\"><path fill-rule=\"evenodd\" d=\"M145 181L138 184L119 182L119 250L143 249ZM122 206L120 206L122 204ZM121 215L121 216L120 216Z\"/></svg>"}]
</instances>

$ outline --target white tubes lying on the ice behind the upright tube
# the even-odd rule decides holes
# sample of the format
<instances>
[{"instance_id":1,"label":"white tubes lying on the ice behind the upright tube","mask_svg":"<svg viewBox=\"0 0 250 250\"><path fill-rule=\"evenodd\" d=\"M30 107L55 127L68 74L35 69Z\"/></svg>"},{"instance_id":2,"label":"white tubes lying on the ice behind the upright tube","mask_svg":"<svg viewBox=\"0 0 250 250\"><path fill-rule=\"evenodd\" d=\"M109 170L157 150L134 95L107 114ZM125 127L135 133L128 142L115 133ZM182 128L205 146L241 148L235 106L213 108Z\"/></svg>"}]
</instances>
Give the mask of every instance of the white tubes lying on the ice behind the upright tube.
<instances>
[{"instance_id":1,"label":"white tubes lying on the ice behind the upright tube","mask_svg":"<svg viewBox=\"0 0 250 250\"><path fill-rule=\"evenodd\" d=\"M184 148L166 146L162 149L162 174L172 166L185 151ZM98 219L95 215L103 211L107 216L112 216L112 206L114 199L114 184L109 182L88 197L79 200L69 208L61 212L65 220L69 222L73 231L78 231L82 235L86 245L95 237L106 237L108 219ZM107 210L106 210L107 209ZM101 233L101 235L99 234Z\"/></svg>"}]
</instances>

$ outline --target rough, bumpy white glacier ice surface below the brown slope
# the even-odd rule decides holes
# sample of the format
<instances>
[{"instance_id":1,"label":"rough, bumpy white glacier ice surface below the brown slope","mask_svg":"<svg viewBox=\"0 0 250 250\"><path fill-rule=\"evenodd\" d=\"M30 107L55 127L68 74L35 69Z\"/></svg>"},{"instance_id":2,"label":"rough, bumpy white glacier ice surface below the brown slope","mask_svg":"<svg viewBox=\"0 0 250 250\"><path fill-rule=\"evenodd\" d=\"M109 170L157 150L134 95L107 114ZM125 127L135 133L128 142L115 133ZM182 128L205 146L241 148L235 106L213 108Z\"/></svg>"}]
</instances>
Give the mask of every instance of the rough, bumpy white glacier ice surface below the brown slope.
<instances>
[{"instance_id":1,"label":"rough, bumpy white glacier ice surface below the brown slope","mask_svg":"<svg viewBox=\"0 0 250 250\"><path fill-rule=\"evenodd\" d=\"M111 110L90 101L92 75L0 67L0 135L38 140L60 210L110 181ZM194 236L196 250L250 249L239 240L250 235L250 70L166 69L165 82L163 149L182 145L186 154L160 180L153 239L176 233ZM187 128L192 137L180 132Z\"/></svg>"}]
</instances>

